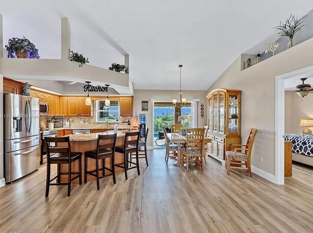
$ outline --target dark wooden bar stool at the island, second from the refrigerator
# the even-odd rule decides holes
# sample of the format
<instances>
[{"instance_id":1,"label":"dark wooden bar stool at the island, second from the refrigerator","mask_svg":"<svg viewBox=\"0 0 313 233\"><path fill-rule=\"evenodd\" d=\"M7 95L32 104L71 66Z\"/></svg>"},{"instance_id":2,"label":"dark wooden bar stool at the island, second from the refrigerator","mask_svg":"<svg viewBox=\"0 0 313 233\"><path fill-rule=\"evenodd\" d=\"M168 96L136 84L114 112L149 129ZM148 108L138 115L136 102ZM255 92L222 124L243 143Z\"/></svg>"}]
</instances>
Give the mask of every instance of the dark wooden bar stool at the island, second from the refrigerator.
<instances>
[{"instance_id":1,"label":"dark wooden bar stool at the island, second from the refrigerator","mask_svg":"<svg viewBox=\"0 0 313 233\"><path fill-rule=\"evenodd\" d=\"M86 151L85 154L85 184L87 183L87 174L97 178L97 189L99 190L99 179L112 176L113 183L115 180L115 166L114 166L114 154L115 154L116 134L110 135L98 135L97 148L95 150ZM96 161L96 169L88 171L88 158ZM105 166L105 159L111 158L112 169ZM102 176L99 176L99 160L102 160ZM105 170L111 171L110 174L105 174ZM94 174L95 173L95 174Z\"/></svg>"}]
</instances>

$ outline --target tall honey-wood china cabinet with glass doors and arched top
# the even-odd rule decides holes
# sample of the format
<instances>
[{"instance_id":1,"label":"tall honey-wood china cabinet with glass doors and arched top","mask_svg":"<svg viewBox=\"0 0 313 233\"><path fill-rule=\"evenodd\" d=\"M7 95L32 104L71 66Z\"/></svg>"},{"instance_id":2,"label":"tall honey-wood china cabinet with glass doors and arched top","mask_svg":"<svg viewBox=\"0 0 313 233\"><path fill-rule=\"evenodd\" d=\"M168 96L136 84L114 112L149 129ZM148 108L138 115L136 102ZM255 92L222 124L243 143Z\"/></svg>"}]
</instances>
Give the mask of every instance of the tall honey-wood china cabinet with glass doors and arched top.
<instances>
[{"instance_id":1,"label":"tall honey-wood china cabinet with glass doors and arched top","mask_svg":"<svg viewBox=\"0 0 313 233\"><path fill-rule=\"evenodd\" d=\"M209 156L225 163L225 151L232 144L241 144L239 90L214 89L206 95L208 99L207 145Z\"/></svg>"}]
</instances>

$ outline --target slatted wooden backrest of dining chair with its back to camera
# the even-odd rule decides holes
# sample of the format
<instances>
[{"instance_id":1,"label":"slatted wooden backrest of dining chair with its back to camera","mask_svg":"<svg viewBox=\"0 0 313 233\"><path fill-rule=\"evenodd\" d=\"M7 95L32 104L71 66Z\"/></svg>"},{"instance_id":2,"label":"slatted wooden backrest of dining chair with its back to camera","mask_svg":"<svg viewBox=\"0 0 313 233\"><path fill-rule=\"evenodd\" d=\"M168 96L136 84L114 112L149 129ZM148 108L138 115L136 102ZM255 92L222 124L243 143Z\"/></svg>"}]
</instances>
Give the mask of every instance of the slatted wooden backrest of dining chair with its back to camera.
<instances>
[{"instance_id":1,"label":"slatted wooden backrest of dining chair with its back to camera","mask_svg":"<svg viewBox=\"0 0 313 233\"><path fill-rule=\"evenodd\" d=\"M190 149L198 149L202 153L203 138L204 138L203 128L187 129L187 134L186 134L187 153L188 153L188 150Z\"/></svg>"}]
</instances>

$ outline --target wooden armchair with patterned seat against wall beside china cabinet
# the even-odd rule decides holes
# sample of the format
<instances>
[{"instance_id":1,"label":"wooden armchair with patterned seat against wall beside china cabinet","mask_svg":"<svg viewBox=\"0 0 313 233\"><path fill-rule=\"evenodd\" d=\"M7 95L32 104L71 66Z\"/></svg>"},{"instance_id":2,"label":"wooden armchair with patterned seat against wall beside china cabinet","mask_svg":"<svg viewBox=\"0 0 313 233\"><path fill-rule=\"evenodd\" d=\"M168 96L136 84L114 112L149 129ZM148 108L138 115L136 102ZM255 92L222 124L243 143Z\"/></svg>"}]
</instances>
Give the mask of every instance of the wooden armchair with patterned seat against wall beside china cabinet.
<instances>
[{"instance_id":1,"label":"wooden armchair with patterned seat against wall beside china cabinet","mask_svg":"<svg viewBox=\"0 0 313 233\"><path fill-rule=\"evenodd\" d=\"M250 177L252 177L251 149L257 131L257 129L251 129L245 145L233 144L231 146L231 151L226 151L227 175L229 175L230 168L237 168L247 170L247 172L250 174ZM241 166L243 165L242 162L245 162L246 167ZM236 164L237 166L232 166L231 164Z\"/></svg>"}]
</instances>

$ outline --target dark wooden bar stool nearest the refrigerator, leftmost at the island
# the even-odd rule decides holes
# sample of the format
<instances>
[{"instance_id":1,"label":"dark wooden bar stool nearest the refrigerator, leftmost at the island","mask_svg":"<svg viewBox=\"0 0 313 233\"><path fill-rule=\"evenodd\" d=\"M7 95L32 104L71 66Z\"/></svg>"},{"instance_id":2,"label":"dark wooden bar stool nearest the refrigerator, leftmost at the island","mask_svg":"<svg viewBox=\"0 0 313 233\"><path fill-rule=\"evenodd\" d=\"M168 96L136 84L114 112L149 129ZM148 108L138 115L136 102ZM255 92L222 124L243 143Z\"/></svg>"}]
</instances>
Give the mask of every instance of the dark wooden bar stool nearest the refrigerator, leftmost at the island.
<instances>
[{"instance_id":1,"label":"dark wooden bar stool nearest the refrigerator, leftmost at the island","mask_svg":"<svg viewBox=\"0 0 313 233\"><path fill-rule=\"evenodd\" d=\"M67 196L70 195L70 183L79 178L79 185L82 184L82 152L71 152L69 137L52 138L45 137L47 146L47 179L45 188L45 197L49 195L50 185L67 185ZM62 143L61 145L59 143ZM67 143L67 146L65 146ZM53 154L55 153L55 154ZM72 163L78 160L79 172L72 172ZM61 164L68 163L68 172L61 173ZM56 177L50 179L50 164L58 164L58 174ZM71 175L76 175L71 178ZM68 183L61 183L61 175L68 175ZM50 184L57 179L57 183Z\"/></svg>"}]
</instances>

